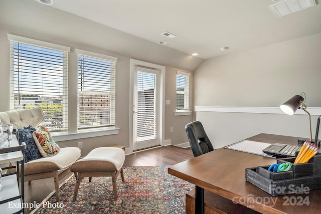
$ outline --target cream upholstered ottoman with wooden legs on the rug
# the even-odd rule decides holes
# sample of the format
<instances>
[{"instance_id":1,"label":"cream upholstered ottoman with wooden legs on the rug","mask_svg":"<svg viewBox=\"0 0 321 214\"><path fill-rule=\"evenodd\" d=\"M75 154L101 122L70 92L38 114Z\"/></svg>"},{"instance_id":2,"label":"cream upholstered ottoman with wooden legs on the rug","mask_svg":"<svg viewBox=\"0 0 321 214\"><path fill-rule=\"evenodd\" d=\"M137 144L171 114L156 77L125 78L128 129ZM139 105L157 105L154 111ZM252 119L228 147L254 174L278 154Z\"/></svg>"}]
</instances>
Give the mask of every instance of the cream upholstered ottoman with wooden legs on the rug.
<instances>
[{"instance_id":1,"label":"cream upholstered ottoman with wooden legs on the rug","mask_svg":"<svg viewBox=\"0 0 321 214\"><path fill-rule=\"evenodd\" d=\"M73 201L76 201L78 189L81 180L84 177L112 177L114 197L117 200L116 179L121 174L122 181L125 181L122 165L125 161L125 151L116 147L99 147L93 149L84 158L74 162L70 170L76 175L77 182L75 185Z\"/></svg>"}]
</instances>

